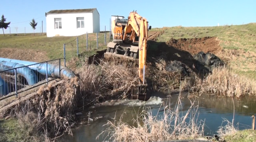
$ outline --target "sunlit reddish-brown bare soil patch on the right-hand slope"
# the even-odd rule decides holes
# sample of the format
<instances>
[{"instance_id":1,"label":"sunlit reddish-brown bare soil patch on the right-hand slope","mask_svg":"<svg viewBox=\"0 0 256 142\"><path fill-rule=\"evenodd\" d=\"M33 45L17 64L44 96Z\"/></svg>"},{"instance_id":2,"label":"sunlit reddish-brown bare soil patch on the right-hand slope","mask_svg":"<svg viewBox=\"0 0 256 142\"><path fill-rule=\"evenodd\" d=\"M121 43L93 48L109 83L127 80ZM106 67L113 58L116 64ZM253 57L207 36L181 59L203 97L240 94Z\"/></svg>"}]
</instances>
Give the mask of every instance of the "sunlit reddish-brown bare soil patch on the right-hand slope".
<instances>
[{"instance_id":1,"label":"sunlit reddish-brown bare soil patch on the right-hand slope","mask_svg":"<svg viewBox=\"0 0 256 142\"><path fill-rule=\"evenodd\" d=\"M203 51L204 53L218 53L221 50L217 37L202 37L202 38L180 38L178 40L171 38L166 42L167 45L177 49L184 50L190 54L197 54Z\"/></svg>"}]
</instances>

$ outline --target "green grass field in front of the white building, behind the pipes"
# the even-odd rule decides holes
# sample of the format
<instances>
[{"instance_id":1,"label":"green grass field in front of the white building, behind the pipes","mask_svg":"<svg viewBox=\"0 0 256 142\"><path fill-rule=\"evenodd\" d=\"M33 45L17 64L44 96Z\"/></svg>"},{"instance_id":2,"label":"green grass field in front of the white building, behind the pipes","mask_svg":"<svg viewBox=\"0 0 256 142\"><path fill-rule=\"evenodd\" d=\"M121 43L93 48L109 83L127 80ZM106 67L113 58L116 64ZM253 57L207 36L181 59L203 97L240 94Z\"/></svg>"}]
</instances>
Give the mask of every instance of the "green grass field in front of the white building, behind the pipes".
<instances>
[{"instance_id":1,"label":"green grass field in front of the white building, behind the pipes","mask_svg":"<svg viewBox=\"0 0 256 142\"><path fill-rule=\"evenodd\" d=\"M91 50L87 54L94 54L97 48L97 38L96 33L88 34L88 49ZM86 35L79 36L79 53L86 51ZM91 42L90 42L91 41ZM109 41L109 32L106 33L106 43ZM20 52L27 51L26 56L31 56L33 61L46 61L56 58L63 58L63 44L66 48L67 60L72 57L77 57L76 53L76 37L46 37L45 33L43 35L0 35L0 57L8 57L19 60L29 60L30 58L20 56ZM105 49L104 45L104 33L98 33L98 46L99 49ZM7 50L8 49L8 50ZM21 49L21 50L17 50ZM10 54L12 52L12 54ZM17 52L17 53L15 53ZM33 58L37 52L41 52L43 55ZM7 56L6 54L10 54ZM2 55L2 56L1 56Z\"/></svg>"}]
</instances>

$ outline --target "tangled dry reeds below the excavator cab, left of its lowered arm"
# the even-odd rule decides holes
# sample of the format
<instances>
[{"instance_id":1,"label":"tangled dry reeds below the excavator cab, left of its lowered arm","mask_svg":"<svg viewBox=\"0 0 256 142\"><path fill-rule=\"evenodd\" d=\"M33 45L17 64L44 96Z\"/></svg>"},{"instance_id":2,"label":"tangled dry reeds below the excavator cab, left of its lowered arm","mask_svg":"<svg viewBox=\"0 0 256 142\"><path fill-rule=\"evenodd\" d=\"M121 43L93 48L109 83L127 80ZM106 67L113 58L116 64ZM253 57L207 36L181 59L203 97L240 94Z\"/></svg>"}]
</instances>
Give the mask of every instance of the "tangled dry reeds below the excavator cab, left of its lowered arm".
<instances>
[{"instance_id":1,"label":"tangled dry reeds below the excavator cab, left of its lowered arm","mask_svg":"<svg viewBox=\"0 0 256 142\"><path fill-rule=\"evenodd\" d=\"M77 70L79 85L88 98L118 96L127 97L132 85L138 84L138 69L127 62L108 62L100 60L98 65L82 63Z\"/></svg>"}]
</instances>

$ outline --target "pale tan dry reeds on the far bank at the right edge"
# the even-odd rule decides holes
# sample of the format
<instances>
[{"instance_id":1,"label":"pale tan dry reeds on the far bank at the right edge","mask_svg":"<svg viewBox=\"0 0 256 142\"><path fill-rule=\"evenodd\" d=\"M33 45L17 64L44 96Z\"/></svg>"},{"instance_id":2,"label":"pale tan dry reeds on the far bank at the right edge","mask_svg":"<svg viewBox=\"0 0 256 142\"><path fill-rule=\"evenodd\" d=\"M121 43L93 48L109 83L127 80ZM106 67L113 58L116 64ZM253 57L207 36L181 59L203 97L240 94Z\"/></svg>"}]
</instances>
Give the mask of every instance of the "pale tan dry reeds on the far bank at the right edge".
<instances>
[{"instance_id":1,"label":"pale tan dry reeds on the far bank at the right edge","mask_svg":"<svg viewBox=\"0 0 256 142\"><path fill-rule=\"evenodd\" d=\"M214 93L229 97L256 95L256 84L248 77L237 75L226 66L214 68L203 79L194 75L182 87L193 92Z\"/></svg>"}]
</instances>

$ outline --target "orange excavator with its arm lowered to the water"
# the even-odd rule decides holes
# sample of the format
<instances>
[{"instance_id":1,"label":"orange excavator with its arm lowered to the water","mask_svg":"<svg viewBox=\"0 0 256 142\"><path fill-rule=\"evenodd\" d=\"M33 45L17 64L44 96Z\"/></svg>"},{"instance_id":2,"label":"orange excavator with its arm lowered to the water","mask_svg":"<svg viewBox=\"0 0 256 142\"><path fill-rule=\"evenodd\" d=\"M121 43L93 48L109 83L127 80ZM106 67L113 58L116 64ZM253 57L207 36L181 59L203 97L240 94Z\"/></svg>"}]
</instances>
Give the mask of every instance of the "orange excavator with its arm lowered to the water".
<instances>
[{"instance_id":1,"label":"orange excavator with its arm lowered to the water","mask_svg":"<svg viewBox=\"0 0 256 142\"><path fill-rule=\"evenodd\" d=\"M131 87L131 99L147 101L146 53L148 26L146 18L136 11L129 14L128 19L124 16L112 16L111 32L113 41L107 45L104 57L118 57L128 60L139 60L139 84Z\"/></svg>"}]
</instances>

